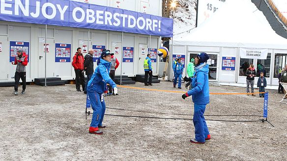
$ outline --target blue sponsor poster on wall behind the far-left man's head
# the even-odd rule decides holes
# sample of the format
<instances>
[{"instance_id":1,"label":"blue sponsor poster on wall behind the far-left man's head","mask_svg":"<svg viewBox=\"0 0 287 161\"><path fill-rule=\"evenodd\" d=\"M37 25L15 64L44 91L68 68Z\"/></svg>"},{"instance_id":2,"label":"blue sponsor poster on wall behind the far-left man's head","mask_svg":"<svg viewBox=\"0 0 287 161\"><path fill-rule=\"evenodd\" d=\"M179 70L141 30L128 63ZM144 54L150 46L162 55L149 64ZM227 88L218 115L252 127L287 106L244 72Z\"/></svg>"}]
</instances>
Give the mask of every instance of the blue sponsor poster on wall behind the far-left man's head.
<instances>
[{"instance_id":1,"label":"blue sponsor poster on wall behind the far-left man's head","mask_svg":"<svg viewBox=\"0 0 287 161\"><path fill-rule=\"evenodd\" d=\"M23 52L28 56L29 62L29 42L23 41L10 41L10 62L15 61L18 49L23 49Z\"/></svg>"}]
</instances>

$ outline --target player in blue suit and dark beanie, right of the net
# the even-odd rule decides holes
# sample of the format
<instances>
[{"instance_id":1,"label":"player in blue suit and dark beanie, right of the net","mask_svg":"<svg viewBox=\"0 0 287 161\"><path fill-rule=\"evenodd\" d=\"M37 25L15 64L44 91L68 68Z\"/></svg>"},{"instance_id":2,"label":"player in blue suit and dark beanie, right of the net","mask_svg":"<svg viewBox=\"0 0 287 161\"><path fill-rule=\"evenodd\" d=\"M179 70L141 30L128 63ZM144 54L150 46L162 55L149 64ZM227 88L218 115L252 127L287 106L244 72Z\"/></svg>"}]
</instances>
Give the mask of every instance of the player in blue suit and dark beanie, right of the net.
<instances>
[{"instance_id":1,"label":"player in blue suit and dark beanie, right of the net","mask_svg":"<svg viewBox=\"0 0 287 161\"><path fill-rule=\"evenodd\" d=\"M192 79L192 89L182 95L182 98L192 96L194 102L193 124L195 127L195 138L192 143L203 144L205 140L210 139L210 134L204 119L205 106L209 103L209 85L208 85L208 54L200 53L195 58L195 73Z\"/></svg>"}]
</instances>

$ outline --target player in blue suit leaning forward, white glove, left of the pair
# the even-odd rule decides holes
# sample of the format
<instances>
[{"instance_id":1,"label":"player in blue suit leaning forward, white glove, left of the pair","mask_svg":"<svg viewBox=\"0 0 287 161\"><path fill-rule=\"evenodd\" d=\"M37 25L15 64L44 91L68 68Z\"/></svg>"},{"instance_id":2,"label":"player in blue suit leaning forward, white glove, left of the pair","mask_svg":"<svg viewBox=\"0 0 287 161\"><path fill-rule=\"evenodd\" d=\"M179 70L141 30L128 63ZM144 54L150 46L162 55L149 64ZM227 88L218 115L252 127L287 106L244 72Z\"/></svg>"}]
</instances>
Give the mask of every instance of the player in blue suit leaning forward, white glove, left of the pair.
<instances>
[{"instance_id":1,"label":"player in blue suit leaning forward, white glove, left of the pair","mask_svg":"<svg viewBox=\"0 0 287 161\"><path fill-rule=\"evenodd\" d=\"M113 53L110 53L110 51L102 52L100 64L87 84L86 91L93 108L93 117L89 127L89 133L91 134L103 134L99 128L106 127L102 125L102 122L106 110L103 93L106 90L107 83L114 89L114 94L118 95L115 82L109 76L112 55Z\"/></svg>"}]
</instances>

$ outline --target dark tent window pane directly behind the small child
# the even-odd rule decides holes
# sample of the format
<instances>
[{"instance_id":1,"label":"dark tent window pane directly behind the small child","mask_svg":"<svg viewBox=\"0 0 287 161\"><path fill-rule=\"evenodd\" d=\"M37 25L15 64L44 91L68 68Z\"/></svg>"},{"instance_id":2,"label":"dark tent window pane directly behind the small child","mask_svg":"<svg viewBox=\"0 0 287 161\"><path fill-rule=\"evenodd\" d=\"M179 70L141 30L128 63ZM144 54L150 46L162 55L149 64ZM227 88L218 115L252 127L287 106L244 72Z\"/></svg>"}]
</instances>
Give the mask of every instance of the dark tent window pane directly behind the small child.
<instances>
[{"instance_id":1,"label":"dark tent window pane directly behind the small child","mask_svg":"<svg viewBox=\"0 0 287 161\"><path fill-rule=\"evenodd\" d=\"M270 77L270 63L271 63L271 53L268 53L267 59L257 60L256 77L260 77L260 73L264 73L264 77Z\"/></svg>"}]
</instances>

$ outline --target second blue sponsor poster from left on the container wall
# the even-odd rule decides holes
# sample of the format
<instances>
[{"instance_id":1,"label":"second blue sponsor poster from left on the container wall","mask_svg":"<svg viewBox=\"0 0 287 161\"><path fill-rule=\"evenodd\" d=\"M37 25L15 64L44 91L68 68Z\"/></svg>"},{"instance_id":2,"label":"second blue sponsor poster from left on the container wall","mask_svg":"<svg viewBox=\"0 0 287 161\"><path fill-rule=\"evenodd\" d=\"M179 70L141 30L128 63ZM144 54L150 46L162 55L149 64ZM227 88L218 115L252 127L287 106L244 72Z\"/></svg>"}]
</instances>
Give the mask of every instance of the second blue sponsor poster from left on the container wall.
<instances>
[{"instance_id":1,"label":"second blue sponsor poster from left on the container wall","mask_svg":"<svg viewBox=\"0 0 287 161\"><path fill-rule=\"evenodd\" d=\"M71 62L71 44L55 44L55 62Z\"/></svg>"}]
</instances>

